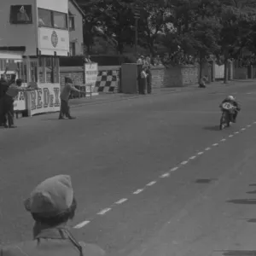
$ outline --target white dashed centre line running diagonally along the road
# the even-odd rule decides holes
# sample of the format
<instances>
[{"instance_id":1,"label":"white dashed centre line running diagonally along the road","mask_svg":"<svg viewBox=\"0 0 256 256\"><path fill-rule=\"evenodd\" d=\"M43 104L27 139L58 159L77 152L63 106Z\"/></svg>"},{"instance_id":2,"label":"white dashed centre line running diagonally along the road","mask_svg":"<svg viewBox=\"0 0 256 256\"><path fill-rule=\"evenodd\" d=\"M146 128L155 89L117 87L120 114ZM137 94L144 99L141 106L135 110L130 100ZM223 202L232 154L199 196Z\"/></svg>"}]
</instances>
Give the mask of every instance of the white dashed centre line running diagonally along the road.
<instances>
[{"instance_id":1,"label":"white dashed centre line running diagonally along the road","mask_svg":"<svg viewBox=\"0 0 256 256\"><path fill-rule=\"evenodd\" d=\"M253 121L253 123L251 125L247 125L247 127L251 127L252 125L256 125L256 121ZM241 131L246 131L246 128L243 127L241 128ZM233 134L230 134L228 137L234 137L234 135L237 135L239 134L240 132L239 131L235 131ZM224 143L227 141L227 138L223 138L220 140L221 143ZM217 147L218 146L218 143L213 143L212 144L212 147ZM169 172L166 172L164 174L161 174L160 177L158 177L156 180L154 181L151 181L150 183L147 183L145 185L145 187L143 189L137 189L135 190L132 195L138 195L140 193L142 193L145 189L149 189L150 187L152 187L155 183L158 183L160 182L160 179L161 178L165 178L165 177L170 177L171 175L171 172L176 172L180 167L182 166L185 166L189 163L189 160L195 160L195 158L199 155L202 155L204 154L205 152L211 150L212 148L210 147L207 147L205 148L203 151L200 151L198 152L197 154L195 155L192 155L189 157L188 160L183 160L180 165L178 166L175 166L175 167L172 167L172 169L169 170ZM103 209L101 212L98 212L96 213L96 215L105 215L107 212L110 212L112 210L112 207L117 207L117 206L121 206L122 204L124 204L126 201L128 201L128 198L122 198L120 199L119 201L116 201L115 203L113 203L113 205L111 207L108 207L108 208L105 208ZM86 226L87 224L90 224L90 222L92 221L92 219L90 220L84 220L83 222L77 224L74 226L75 229L81 229L83 228L84 226Z\"/></svg>"}]
</instances>

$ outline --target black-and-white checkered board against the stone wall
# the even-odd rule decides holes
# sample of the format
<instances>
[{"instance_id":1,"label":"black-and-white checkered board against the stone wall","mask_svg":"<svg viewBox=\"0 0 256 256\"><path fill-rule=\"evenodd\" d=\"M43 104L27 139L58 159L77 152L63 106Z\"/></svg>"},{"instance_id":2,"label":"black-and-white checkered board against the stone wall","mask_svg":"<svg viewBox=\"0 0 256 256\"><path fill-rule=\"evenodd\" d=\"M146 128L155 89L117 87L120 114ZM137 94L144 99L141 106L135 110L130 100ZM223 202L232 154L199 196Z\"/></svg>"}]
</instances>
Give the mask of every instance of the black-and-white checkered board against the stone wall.
<instances>
[{"instance_id":1,"label":"black-and-white checkered board against the stone wall","mask_svg":"<svg viewBox=\"0 0 256 256\"><path fill-rule=\"evenodd\" d=\"M97 92L116 92L118 90L117 71L99 71L96 81L96 90Z\"/></svg>"}]
</instances>

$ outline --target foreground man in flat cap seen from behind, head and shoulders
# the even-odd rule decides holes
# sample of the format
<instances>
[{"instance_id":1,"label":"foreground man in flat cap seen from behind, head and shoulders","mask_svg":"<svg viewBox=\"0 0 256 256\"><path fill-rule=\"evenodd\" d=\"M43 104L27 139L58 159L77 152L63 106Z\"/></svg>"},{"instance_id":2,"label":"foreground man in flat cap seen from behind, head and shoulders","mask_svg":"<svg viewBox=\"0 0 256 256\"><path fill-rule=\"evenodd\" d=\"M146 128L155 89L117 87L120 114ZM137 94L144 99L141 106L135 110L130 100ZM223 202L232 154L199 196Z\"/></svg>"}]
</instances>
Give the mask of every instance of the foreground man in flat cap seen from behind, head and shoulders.
<instances>
[{"instance_id":1,"label":"foreground man in flat cap seen from behind, head and shoulders","mask_svg":"<svg viewBox=\"0 0 256 256\"><path fill-rule=\"evenodd\" d=\"M35 220L33 240L3 247L1 256L103 256L92 244L77 241L67 227L77 207L71 178L58 175L38 184L25 207Z\"/></svg>"}]
</instances>

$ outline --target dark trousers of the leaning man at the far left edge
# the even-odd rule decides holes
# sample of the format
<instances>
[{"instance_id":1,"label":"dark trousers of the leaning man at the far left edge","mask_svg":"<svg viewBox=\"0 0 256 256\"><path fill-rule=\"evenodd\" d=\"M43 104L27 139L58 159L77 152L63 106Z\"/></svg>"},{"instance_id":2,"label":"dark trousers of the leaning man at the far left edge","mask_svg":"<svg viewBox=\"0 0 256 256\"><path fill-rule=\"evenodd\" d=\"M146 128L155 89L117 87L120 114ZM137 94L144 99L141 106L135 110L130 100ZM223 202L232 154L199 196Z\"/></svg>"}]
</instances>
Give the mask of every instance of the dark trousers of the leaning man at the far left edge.
<instances>
[{"instance_id":1,"label":"dark trousers of the leaning man at the far left edge","mask_svg":"<svg viewBox=\"0 0 256 256\"><path fill-rule=\"evenodd\" d=\"M14 99L10 96L3 96L0 99L0 123L6 124L6 116L8 119L8 125L13 126L15 124L14 117L15 117L15 110L14 110Z\"/></svg>"}]
</instances>

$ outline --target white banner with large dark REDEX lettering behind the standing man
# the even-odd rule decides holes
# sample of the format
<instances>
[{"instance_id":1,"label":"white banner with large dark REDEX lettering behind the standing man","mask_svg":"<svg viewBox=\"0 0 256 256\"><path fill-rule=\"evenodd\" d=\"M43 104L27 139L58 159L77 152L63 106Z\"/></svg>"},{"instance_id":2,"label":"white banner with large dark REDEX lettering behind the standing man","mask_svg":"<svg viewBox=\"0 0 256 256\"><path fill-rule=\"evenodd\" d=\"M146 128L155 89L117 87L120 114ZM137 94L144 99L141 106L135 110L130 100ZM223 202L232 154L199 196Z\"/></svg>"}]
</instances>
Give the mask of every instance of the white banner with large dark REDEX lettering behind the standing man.
<instances>
[{"instance_id":1,"label":"white banner with large dark REDEX lettering behind the standing man","mask_svg":"<svg viewBox=\"0 0 256 256\"><path fill-rule=\"evenodd\" d=\"M39 90L28 92L28 113L58 112L61 108L60 84L38 84Z\"/></svg>"}]
</instances>

